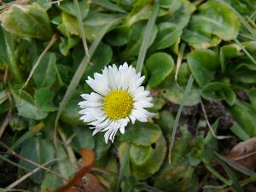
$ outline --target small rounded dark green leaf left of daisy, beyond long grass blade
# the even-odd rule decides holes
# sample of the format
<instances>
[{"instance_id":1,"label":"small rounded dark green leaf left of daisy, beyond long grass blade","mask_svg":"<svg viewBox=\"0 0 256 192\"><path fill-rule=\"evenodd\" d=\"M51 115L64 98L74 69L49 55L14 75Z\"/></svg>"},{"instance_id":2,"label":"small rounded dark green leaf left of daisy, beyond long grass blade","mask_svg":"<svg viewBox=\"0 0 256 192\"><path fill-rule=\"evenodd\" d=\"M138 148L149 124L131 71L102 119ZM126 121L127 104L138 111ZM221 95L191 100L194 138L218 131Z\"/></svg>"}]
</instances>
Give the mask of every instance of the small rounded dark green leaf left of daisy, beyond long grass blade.
<instances>
[{"instance_id":1,"label":"small rounded dark green leaf left of daisy, beyond long grass blade","mask_svg":"<svg viewBox=\"0 0 256 192\"><path fill-rule=\"evenodd\" d=\"M54 99L55 93L49 88L40 88L36 90L35 92L35 102L40 108L40 110L49 112L49 111L55 111L57 108L54 106L53 99Z\"/></svg>"}]
</instances>

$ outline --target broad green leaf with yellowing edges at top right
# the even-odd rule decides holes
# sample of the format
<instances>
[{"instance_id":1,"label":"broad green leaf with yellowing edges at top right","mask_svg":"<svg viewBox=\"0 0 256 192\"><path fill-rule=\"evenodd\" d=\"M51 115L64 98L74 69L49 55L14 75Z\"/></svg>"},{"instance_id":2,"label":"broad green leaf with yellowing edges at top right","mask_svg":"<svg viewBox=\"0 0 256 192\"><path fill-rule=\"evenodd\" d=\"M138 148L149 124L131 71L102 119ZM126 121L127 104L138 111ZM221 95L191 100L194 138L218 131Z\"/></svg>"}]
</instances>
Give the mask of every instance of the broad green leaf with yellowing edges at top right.
<instances>
[{"instance_id":1,"label":"broad green leaf with yellowing edges at top right","mask_svg":"<svg viewBox=\"0 0 256 192\"><path fill-rule=\"evenodd\" d=\"M220 43L219 39L235 39L240 29L240 20L224 3L207 1L193 15L183 39L195 48L207 48Z\"/></svg>"}]
</instances>

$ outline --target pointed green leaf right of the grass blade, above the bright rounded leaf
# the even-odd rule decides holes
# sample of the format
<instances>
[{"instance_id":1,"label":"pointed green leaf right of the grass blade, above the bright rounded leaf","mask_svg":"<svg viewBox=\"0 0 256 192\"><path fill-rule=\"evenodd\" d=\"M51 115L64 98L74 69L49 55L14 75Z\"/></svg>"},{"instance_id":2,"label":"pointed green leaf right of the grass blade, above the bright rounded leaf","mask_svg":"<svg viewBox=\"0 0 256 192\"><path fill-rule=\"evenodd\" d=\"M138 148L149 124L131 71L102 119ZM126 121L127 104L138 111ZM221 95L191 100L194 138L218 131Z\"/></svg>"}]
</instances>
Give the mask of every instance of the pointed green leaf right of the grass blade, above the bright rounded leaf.
<instances>
[{"instance_id":1,"label":"pointed green leaf right of the grass blade, above the bright rounded leaf","mask_svg":"<svg viewBox=\"0 0 256 192\"><path fill-rule=\"evenodd\" d=\"M151 50L166 49L177 42L182 34L182 29L170 22L162 22L158 26L158 33Z\"/></svg>"}]
</instances>

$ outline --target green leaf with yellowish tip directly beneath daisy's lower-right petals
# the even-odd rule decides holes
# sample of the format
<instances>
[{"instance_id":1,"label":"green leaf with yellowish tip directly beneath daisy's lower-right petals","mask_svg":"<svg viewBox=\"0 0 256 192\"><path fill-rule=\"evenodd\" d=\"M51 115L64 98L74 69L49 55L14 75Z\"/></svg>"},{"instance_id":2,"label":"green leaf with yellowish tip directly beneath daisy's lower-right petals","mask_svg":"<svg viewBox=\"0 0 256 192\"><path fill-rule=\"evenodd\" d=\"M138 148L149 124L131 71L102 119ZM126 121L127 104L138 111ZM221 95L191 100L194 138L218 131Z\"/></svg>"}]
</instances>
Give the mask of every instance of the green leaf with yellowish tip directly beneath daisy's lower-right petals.
<instances>
[{"instance_id":1,"label":"green leaf with yellowish tip directly beneath daisy's lower-right petals","mask_svg":"<svg viewBox=\"0 0 256 192\"><path fill-rule=\"evenodd\" d=\"M161 135L160 127L152 123L136 122L126 129L125 134L119 137L120 141L131 142L141 146L150 146Z\"/></svg>"}]
</instances>

